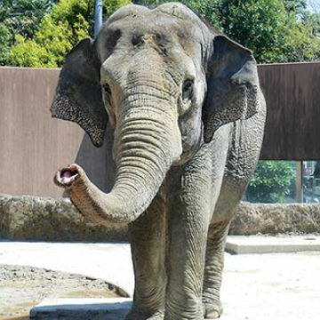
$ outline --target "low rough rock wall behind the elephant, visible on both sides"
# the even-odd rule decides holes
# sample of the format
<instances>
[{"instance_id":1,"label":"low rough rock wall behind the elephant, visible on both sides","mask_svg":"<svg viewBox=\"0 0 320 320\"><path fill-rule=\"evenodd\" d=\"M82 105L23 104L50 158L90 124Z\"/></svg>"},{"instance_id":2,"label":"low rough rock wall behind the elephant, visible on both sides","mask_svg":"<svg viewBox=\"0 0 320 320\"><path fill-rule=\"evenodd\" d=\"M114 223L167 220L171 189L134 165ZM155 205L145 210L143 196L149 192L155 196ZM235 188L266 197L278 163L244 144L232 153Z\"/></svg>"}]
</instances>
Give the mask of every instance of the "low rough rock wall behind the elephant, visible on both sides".
<instances>
[{"instance_id":1,"label":"low rough rock wall behind the elephant, visible on both sides","mask_svg":"<svg viewBox=\"0 0 320 320\"><path fill-rule=\"evenodd\" d=\"M241 203L231 235L320 232L320 204ZM44 241L125 241L126 225L84 220L68 198L0 195L0 237Z\"/></svg>"}]
</instances>

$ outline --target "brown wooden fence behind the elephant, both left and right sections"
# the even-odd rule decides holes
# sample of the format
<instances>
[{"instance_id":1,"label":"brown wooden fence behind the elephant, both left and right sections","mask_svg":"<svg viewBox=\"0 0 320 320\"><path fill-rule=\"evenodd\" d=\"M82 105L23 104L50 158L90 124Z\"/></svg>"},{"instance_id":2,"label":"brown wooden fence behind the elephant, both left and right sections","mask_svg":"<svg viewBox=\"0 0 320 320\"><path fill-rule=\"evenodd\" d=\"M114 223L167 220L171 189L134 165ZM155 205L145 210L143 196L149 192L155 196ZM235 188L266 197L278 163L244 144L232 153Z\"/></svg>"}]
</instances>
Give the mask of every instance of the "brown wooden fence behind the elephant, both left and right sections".
<instances>
[{"instance_id":1,"label":"brown wooden fence behind the elephant, both left and right sections","mask_svg":"<svg viewBox=\"0 0 320 320\"><path fill-rule=\"evenodd\" d=\"M262 65L268 102L262 159L320 159L320 63ZM0 193L54 196L53 173L84 166L108 191L111 146L94 148L77 124L53 119L50 104L59 69L0 68Z\"/></svg>"}]
</instances>

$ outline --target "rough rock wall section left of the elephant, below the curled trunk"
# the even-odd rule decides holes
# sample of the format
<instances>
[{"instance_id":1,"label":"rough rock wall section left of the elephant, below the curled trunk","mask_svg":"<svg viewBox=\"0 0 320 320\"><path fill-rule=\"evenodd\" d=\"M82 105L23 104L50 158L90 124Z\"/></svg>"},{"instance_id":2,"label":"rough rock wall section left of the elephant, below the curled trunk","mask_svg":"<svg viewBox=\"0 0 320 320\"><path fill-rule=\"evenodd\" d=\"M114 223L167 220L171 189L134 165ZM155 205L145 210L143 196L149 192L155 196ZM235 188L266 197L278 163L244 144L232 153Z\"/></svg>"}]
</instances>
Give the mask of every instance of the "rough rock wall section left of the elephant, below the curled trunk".
<instances>
[{"instance_id":1,"label":"rough rock wall section left of the elephant, below the curled trunk","mask_svg":"<svg viewBox=\"0 0 320 320\"><path fill-rule=\"evenodd\" d=\"M0 195L0 237L44 241L124 241L127 226L84 220L68 198Z\"/></svg>"}]
</instances>

